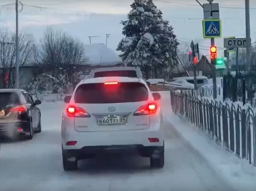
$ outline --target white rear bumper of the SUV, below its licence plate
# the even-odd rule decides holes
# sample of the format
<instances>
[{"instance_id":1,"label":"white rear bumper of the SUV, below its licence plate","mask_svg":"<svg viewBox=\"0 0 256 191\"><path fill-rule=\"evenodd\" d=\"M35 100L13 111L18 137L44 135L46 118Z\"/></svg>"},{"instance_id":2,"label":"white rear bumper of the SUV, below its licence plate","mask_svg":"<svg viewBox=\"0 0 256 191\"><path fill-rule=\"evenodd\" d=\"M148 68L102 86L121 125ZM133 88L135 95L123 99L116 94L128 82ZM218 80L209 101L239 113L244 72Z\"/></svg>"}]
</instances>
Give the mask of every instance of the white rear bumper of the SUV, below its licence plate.
<instances>
[{"instance_id":1,"label":"white rear bumper of the SUV, below its licence plate","mask_svg":"<svg viewBox=\"0 0 256 191\"><path fill-rule=\"evenodd\" d=\"M150 139L151 138L151 139ZM152 140L153 138L153 140ZM158 140L158 141L157 141ZM68 141L76 141L73 146ZM161 128L125 131L77 132L62 131L63 149L82 149L87 146L163 146Z\"/></svg>"}]
</instances>

